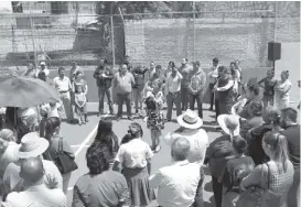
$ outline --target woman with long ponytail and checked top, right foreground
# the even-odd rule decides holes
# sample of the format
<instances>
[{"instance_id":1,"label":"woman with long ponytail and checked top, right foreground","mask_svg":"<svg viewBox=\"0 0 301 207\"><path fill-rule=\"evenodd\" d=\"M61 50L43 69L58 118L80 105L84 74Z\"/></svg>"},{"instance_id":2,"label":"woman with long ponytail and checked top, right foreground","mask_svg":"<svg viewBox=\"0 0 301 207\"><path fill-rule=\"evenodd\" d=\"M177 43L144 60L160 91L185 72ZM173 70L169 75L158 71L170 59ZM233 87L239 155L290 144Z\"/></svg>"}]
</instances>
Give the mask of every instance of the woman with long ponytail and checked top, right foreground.
<instances>
[{"instance_id":1,"label":"woman with long ponytail and checked top, right foreground","mask_svg":"<svg viewBox=\"0 0 301 207\"><path fill-rule=\"evenodd\" d=\"M280 133L267 132L262 140L262 148L270 161L257 165L243 179L240 187L246 189L258 186L265 190L271 190L275 193L273 201L277 203L277 206L283 207L293 182L293 165L288 155L287 138ZM246 201L244 196L240 198L241 204L244 204Z\"/></svg>"}]
</instances>

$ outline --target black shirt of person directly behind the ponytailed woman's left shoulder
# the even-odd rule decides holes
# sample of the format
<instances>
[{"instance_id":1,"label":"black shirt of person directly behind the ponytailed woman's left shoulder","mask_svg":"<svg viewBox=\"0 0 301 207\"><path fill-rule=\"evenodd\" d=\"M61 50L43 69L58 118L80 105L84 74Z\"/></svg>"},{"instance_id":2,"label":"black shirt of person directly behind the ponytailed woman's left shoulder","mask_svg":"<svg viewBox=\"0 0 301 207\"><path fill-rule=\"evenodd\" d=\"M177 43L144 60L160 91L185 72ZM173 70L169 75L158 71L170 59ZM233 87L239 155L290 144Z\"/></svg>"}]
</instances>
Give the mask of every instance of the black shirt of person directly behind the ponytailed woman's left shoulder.
<instances>
[{"instance_id":1,"label":"black shirt of person directly behind the ponytailed woman's left shoulder","mask_svg":"<svg viewBox=\"0 0 301 207\"><path fill-rule=\"evenodd\" d=\"M270 160L262 149L262 138L268 131L271 131L271 127L268 123L264 123L250 131L250 138L248 139L248 155L256 165L267 163Z\"/></svg>"}]
</instances>

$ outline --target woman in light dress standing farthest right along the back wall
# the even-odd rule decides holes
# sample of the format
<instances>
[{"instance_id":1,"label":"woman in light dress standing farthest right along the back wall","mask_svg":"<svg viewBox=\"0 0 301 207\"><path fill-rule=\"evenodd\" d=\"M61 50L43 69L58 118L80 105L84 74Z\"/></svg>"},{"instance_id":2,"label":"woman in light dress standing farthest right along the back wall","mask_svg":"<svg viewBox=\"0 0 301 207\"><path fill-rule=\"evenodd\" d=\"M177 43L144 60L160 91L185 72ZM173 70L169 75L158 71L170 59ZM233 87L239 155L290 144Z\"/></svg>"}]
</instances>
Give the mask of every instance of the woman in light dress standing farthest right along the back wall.
<instances>
[{"instance_id":1,"label":"woman in light dress standing farthest right along the back wall","mask_svg":"<svg viewBox=\"0 0 301 207\"><path fill-rule=\"evenodd\" d=\"M281 110L284 108L288 108L290 105L290 89L291 89L291 81L289 78L289 70L284 70L281 73L281 80L277 81L277 85L275 86L275 103L276 108Z\"/></svg>"}]
</instances>

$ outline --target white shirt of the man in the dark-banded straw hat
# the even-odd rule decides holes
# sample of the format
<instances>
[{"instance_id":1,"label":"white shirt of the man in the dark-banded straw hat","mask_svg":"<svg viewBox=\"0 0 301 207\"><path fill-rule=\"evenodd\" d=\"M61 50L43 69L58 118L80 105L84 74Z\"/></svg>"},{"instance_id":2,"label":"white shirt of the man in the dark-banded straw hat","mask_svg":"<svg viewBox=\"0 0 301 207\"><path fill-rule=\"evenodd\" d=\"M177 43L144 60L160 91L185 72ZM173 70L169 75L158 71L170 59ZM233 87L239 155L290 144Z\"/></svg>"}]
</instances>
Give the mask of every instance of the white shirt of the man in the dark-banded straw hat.
<instances>
[{"instance_id":1,"label":"white shirt of the man in the dark-banded straw hat","mask_svg":"<svg viewBox=\"0 0 301 207\"><path fill-rule=\"evenodd\" d=\"M203 164L205 160L206 149L208 146L208 135L203 129L187 129L181 133L168 133L164 141L171 145L176 138L186 138L191 143L191 150L187 160L191 163Z\"/></svg>"}]
</instances>

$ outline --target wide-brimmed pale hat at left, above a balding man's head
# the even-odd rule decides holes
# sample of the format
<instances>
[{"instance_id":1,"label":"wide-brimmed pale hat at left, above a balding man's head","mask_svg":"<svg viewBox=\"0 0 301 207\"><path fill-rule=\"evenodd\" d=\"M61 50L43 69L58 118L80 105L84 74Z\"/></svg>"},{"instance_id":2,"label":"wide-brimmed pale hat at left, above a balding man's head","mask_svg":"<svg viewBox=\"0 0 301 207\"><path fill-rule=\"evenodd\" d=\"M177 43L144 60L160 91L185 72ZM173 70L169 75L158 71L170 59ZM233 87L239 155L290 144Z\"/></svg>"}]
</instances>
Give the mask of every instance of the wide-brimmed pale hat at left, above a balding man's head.
<instances>
[{"instance_id":1,"label":"wide-brimmed pale hat at left, above a balding man's head","mask_svg":"<svg viewBox=\"0 0 301 207\"><path fill-rule=\"evenodd\" d=\"M44 138L40 138L36 132L30 132L21 139L21 148L18 151L19 159L35 157L43 154L50 145Z\"/></svg>"}]
</instances>

